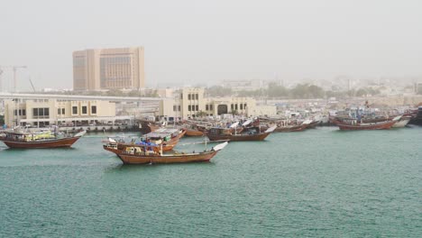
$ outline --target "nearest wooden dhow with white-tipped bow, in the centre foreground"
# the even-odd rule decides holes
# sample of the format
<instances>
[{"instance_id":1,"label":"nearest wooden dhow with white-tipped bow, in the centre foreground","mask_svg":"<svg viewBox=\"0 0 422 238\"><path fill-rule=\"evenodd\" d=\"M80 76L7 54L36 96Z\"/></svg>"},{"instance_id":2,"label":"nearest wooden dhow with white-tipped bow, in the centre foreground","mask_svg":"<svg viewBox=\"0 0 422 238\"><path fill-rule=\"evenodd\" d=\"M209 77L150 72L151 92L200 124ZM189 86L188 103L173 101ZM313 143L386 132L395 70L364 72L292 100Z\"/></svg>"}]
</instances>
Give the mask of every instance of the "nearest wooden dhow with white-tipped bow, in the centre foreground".
<instances>
[{"instance_id":1,"label":"nearest wooden dhow with white-tipped bow, in the centre foreground","mask_svg":"<svg viewBox=\"0 0 422 238\"><path fill-rule=\"evenodd\" d=\"M114 152L124 164L159 164L159 163L186 163L211 160L218 151L225 148L227 142L217 144L210 151L201 152L173 152L162 153L161 146L147 146L138 144L125 144L118 148L114 142L103 145L105 151Z\"/></svg>"}]
</instances>

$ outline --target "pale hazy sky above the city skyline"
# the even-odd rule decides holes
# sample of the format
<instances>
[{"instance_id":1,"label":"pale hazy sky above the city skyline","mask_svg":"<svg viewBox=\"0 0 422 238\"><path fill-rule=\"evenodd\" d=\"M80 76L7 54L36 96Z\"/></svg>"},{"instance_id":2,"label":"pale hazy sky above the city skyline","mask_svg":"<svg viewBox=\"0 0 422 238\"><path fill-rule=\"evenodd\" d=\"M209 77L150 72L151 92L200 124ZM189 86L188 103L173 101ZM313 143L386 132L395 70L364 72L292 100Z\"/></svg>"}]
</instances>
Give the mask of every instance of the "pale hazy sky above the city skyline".
<instances>
[{"instance_id":1,"label":"pale hazy sky above the city skyline","mask_svg":"<svg viewBox=\"0 0 422 238\"><path fill-rule=\"evenodd\" d=\"M144 46L148 87L421 76L422 1L2 1L0 65L72 87L72 51ZM5 72L4 87L12 74ZM9 85L8 85L9 84Z\"/></svg>"}]
</instances>

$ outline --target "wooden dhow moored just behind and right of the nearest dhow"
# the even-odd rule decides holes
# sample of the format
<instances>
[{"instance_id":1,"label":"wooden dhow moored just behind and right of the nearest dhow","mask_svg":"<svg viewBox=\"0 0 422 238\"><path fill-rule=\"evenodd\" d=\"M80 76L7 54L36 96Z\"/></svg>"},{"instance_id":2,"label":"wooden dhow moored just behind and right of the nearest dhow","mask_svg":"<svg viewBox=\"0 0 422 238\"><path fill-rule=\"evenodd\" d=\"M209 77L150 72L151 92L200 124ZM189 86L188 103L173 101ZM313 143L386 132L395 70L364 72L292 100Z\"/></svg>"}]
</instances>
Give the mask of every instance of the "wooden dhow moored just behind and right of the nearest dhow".
<instances>
[{"instance_id":1,"label":"wooden dhow moored just behind and right of the nearest dhow","mask_svg":"<svg viewBox=\"0 0 422 238\"><path fill-rule=\"evenodd\" d=\"M243 133L235 133L235 130L231 128L219 128L214 127L206 132L206 136L210 141L230 141L230 142L242 142L242 141L263 141L270 133L274 132L277 126L274 125L261 133L257 127L247 128L243 130Z\"/></svg>"}]
</instances>

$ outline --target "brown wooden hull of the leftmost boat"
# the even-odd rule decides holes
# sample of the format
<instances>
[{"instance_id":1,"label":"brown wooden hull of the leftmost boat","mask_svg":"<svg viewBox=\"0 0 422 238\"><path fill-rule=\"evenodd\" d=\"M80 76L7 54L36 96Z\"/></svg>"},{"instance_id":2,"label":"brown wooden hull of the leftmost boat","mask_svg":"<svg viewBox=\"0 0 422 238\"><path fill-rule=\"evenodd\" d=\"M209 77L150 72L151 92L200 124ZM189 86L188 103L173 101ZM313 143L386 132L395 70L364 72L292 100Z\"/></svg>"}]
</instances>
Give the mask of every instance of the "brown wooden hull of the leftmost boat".
<instances>
[{"instance_id":1,"label":"brown wooden hull of the leftmost boat","mask_svg":"<svg viewBox=\"0 0 422 238\"><path fill-rule=\"evenodd\" d=\"M47 149L47 148L60 148L60 147L70 147L73 143L77 142L80 137L69 137L45 141L36 141L36 142L15 142L6 139L2 139L10 148L22 148L22 149Z\"/></svg>"}]
</instances>

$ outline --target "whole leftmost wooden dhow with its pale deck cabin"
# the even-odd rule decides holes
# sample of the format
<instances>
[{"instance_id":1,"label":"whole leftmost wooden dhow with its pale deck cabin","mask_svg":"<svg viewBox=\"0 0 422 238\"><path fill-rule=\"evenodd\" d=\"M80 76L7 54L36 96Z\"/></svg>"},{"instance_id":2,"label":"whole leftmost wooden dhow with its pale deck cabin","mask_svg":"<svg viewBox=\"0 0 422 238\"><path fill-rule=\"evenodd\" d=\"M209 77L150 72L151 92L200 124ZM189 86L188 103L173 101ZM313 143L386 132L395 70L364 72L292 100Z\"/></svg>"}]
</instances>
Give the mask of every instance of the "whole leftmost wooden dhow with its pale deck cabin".
<instances>
[{"instance_id":1,"label":"whole leftmost wooden dhow with its pale deck cabin","mask_svg":"<svg viewBox=\"0 0 422 238\"><path fill-rule=\"evenodd\" d=\"M68 135L63 133L47 132L3 132L0 141L10 148L47 149L70 147L82 137L86 131Z\"/></svg>"}]
</instances>

